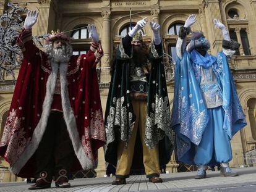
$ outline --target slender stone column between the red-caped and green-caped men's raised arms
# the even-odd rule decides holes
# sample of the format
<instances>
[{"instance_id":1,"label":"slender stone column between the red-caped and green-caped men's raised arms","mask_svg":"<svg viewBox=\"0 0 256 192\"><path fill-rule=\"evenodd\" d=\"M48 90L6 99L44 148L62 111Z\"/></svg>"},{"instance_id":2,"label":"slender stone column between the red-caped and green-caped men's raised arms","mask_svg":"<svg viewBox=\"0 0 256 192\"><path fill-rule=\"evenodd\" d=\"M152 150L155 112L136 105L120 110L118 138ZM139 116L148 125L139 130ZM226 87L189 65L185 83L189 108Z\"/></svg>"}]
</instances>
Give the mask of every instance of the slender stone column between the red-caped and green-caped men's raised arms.
<instances>
[{"instance_id":1,"label":"slender stone column between the red-caped and green-caped men's raised arms","mask_svg":"<svg viewBox=\"0 0 256 192\"><path fill-rule=\"evenodd\" d=\"M104 56L101 58L101 67L109 67L110 59L110 44L111 44L111 35L110 35L110 23L109 16L111 14L110 10L104 10L101 12L103 17L103 33L101 38L102 48L104 51Z\"/></svg>"}]
</instances>

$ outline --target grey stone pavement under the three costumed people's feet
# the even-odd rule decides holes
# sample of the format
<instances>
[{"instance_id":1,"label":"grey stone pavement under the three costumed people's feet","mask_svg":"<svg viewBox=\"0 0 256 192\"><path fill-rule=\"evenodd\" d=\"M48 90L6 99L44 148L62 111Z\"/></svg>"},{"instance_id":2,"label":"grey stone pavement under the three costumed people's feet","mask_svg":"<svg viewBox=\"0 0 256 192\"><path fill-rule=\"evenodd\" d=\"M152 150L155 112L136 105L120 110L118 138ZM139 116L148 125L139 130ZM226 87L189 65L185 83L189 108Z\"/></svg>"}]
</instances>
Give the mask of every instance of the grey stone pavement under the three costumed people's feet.
<instances>
[{"instance_id":1,"label":"grey stone pavement under the three costumed people's feet","mask_svg":"<svg viewBox=\"0 0 256 192\"><path fill-rule=\"evenodd\" d=\"M73 191L73 192L107 192L107 191L200 191L200 192L255 192L256 167L234 169L239 177L220 177L219 172L207 172L207 178L195 180L195 172L162 174L163 183L149 183L145 175L135 175L127 179L126 185L111 185L113 177L85 178L70 181L72 187L60 189L52 184L52 188L37 191ZM1 192L30 191L31 184L0 183Z\"/></svg>"}]
</instances>

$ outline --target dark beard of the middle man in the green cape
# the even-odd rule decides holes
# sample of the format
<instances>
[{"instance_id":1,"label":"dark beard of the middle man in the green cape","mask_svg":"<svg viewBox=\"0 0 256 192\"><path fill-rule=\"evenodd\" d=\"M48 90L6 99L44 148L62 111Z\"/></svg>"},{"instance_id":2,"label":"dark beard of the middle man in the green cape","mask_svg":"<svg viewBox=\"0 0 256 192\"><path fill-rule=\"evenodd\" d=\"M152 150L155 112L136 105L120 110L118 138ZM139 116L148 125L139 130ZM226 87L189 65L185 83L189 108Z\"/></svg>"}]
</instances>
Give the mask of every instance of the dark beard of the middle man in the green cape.
<instances>
[{"instance_id":1,"label":"dark beard of the middle man in the green cape","mask_svg":"<svg viewBox=\"0 0 256 192\"><path fill-rule=\"evenodd\" d=\"M146 65L148 60L148 52L139 45L133 44L132 48L134 51L132 54L132 59L135 67L142 67L143 65Z\"/></svg>"}]
</instances>

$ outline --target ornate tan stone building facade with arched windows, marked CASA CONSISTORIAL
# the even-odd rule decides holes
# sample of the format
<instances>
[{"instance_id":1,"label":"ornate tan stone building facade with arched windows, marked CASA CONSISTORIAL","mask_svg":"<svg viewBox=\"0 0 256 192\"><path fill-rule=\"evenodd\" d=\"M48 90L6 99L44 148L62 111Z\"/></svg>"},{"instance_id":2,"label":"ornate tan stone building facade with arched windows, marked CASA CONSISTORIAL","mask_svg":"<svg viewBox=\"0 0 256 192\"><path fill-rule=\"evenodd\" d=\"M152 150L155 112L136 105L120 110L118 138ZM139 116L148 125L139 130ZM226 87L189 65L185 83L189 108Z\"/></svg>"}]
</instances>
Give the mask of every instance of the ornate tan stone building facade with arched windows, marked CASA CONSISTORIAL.
<instances>
[{"instance_id":1,"label":"ornate tan stone building facade with arched windows, marked CASA CONSISTORIAL","mask_svg":"<svg viewBox=\"0 0 256 192\"><path fill-rule=\"evenodd\" d=\"M30 10L37 10L39 17L33 27L33 35L43 35L51 30L65 31L73 37L74 54L86 52L90 46L90 37L85 28L87 24L96 24L100 33L100 40L105 56L98 64L98 77L101 86L101 102L105 112L110 80L109 66L113 60L114 49L120 42L121 36L126 35L130 24L130 10L132 25L137 20L147 17L155 19L161 25L164 52L176 59L175 44L179 27L184 25L190 14L197 15L197 22L192 30L201 30L210 40L211 54L221 50L221 30L215 27L213 19L219 19L229 29L233 40L241 43L237 55L233 57L230 67L236 82L237 92L244 109L247 126L237 133L233 140L233 161L231 166L244 165L244 152L256 145L256 0L145 0L145 1L112 1L112 0L0 0L0 15L6 9L7 2L19 4ZM24 15L25 18L25 15ZM150 25L143 28L143 38L151 41ZM166 55L167 59L171 59ZM15 74L19 69L15 71ZM169 70L168 93L170 103L173 102L173 74ZM6 121L12 93L13 81L6 76L0 82L0 138ZM0 165L8 167L4 159ZM177 171L177 163L173 156L166 170ZM97 176L105 174L103 149L100 149ZM13 175L5 178L6 181L15 181Z\"/></svg>"}]
</instances>

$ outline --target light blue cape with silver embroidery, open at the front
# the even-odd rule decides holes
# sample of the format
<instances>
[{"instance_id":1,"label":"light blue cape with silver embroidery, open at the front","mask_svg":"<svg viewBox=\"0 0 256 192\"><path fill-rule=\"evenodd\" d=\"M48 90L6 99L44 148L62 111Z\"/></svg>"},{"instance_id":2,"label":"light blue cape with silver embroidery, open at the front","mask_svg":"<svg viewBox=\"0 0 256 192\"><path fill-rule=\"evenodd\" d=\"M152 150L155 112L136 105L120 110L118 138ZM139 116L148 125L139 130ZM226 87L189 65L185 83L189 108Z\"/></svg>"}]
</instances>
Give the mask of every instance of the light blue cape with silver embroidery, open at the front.
<instances>
[{"instance_id":1,"label":"light blue cape with silver embroidery, open at the front","mask_svg":"<svg viewBox=\"0 0 256 192\"><path fill-rule=\"evenodd\" d=\"M218 52L212 65L218 85L223 93L224 125L223 129L231 139L246 125L236 86L229 69L226 55ZM191 60L191 54L184 52L177 59L174 83L174 102L171 125L176 132L178 161L194 164L195 149L202 140L209 117L207 106L200 91L200 66Z\"/></svg>"}]
</instances>

